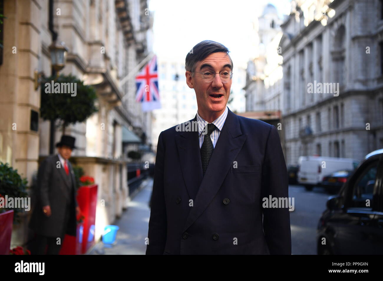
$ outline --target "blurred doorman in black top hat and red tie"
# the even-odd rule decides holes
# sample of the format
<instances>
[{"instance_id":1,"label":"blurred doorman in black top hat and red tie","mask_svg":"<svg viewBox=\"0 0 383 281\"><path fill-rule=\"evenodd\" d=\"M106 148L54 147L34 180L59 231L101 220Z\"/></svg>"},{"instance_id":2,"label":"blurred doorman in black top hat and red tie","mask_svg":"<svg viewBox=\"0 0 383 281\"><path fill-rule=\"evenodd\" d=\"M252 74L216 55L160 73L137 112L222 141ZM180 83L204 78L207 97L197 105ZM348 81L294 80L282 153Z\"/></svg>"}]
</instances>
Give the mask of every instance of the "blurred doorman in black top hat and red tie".
<instances>
[{"instance_id":1,"label":"blurred doorman in black top hat and red tie","mask_svg":"<svg viewBox=\"0 0 383 281\"><path fill-rule=\"evenodd\" d=\"M80 208L76 200L76 181L69 162L75 138L62 135L56 144L58 153L41 163L37 176L36 202L29 227L36 233L32 254L57 255L65 234L76 235L76 216ZM57 239L60 238L60 239Z\"/></svg>"}]
</instances>

